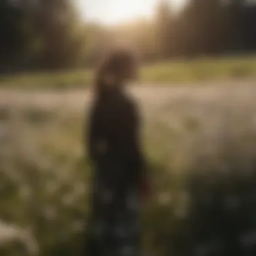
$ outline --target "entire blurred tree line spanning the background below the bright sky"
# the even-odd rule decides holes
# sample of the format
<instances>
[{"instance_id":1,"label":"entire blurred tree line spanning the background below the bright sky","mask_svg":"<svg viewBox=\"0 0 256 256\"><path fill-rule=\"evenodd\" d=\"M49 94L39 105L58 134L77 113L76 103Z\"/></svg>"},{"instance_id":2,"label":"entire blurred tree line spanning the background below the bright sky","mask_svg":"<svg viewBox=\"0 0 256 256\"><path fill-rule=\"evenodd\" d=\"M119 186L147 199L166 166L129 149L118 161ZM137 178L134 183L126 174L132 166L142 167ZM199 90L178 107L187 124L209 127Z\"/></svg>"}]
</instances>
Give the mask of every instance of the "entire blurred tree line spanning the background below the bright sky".
<instances>
[{"instance_id":1,"label":"entire blurred tree line spanning the background below the bright sky","mask_svg":"<svg viewBox=\"0 0 256 256\"><path fill-rule=\"evenodd\" d=\"M255 28L245 0L190 0L179 13L162 0L151 20L113 28L85 22L70 0L1 0L0 70L87 67L120 40L149 62L251 53Z\"/></svg>"}]
</instances>

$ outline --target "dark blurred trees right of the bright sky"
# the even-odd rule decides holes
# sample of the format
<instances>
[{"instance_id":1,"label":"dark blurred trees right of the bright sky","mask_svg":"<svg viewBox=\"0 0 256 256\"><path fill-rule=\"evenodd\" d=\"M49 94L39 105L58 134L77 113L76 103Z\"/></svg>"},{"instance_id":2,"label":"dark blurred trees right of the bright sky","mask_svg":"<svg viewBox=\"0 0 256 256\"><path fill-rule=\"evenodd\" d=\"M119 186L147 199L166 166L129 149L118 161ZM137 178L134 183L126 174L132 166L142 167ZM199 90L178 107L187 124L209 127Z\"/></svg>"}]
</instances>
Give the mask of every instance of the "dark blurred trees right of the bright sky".
<instances>
[{"instance_id":1,"label":"dark blurred trees right of the bright sky","mask_svg":"<svg viewBox=\"0 0 256 256\"><path fill-rule=\"evenodd\" d=\"M162 1L158 9L159 38L166 57L248 53L256 49L253 2L191 0L178 16L170 8L168 14L166 10L168 2Z\"/></svg>"}]
</instances>

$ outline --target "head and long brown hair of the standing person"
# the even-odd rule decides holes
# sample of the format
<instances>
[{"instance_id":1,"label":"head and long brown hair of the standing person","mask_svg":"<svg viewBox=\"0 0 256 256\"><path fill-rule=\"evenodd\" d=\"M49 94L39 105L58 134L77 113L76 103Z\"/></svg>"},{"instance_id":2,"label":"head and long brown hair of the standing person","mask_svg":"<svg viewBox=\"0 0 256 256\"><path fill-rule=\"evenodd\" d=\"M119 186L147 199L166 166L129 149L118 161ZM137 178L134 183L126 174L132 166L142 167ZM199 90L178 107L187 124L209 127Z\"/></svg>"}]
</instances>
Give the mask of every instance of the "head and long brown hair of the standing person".
<instances>
[{"instance_id":1,"label":"head and long brown hair of the standing person","mask_svg":"<svg viewBox=\"0 0 256 256\"><path fill-rule=\"evenodd\" d=\"M136 76L137 59L135 54L129 50L115 50L103 59L96 71L94 82L94 94L96 98L101 98L108 91L107 76L114 78L113 86L115 89L120 89L123 82L132 79Z\"/></svg>"}]
</instances>

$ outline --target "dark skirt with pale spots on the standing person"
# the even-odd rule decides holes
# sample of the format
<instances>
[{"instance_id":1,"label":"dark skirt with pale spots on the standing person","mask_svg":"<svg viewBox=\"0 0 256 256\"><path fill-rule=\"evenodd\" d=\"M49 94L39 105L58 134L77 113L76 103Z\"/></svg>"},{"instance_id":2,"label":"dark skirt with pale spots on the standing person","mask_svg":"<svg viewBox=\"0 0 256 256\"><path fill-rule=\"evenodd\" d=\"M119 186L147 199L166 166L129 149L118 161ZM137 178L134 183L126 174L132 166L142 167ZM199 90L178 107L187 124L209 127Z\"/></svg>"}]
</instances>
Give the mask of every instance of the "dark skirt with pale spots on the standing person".
<instances>
[{"instance_id":1,"label":"dark skirt with pale spots on the standing person","mask_svg":"<svg viewBox=\"0 0 256 256\"><path fill-rule=\"evenodd\" d=\"M141 255L137 189L106 184L95 179L86 256Z\"/></svg>"}]
</instances>

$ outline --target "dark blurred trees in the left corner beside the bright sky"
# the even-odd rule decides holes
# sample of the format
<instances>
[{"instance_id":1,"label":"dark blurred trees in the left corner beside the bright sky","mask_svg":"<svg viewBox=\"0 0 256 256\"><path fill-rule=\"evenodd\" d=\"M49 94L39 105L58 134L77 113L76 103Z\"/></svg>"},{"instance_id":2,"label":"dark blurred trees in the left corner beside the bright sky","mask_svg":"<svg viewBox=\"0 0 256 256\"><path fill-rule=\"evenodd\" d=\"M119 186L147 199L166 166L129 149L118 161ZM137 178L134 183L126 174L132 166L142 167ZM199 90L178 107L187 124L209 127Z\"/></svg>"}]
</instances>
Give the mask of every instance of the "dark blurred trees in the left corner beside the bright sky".
<instances>
[{"instance_id":1,"label":"dark blurred trees in the left corner beside the bright sky","mask_svg":"<svg viewBox=\"0 0 256 256\"><path fill-rule=\"evenodd\" d=\"M84 24L69 0L1 0L0 67L76 67L84 51Z\"/></svg>"}]
</instances>

